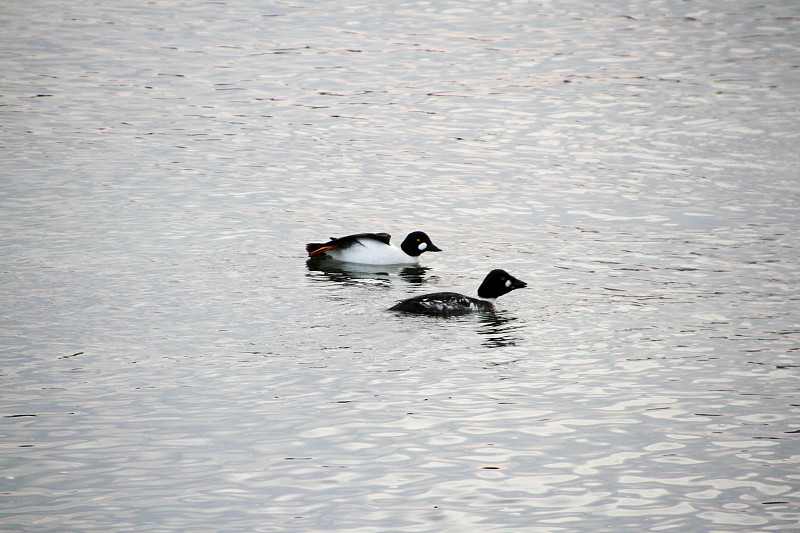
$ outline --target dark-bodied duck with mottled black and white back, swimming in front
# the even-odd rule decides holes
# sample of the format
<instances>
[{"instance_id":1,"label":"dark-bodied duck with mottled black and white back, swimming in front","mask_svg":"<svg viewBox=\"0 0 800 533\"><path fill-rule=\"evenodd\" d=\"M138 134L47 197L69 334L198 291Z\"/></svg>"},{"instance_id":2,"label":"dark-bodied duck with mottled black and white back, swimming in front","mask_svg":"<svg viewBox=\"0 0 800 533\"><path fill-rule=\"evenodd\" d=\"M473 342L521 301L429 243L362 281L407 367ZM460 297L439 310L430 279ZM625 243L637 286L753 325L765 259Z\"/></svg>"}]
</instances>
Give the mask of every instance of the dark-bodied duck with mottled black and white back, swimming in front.
<instances>
[{"instance_id":1,"label":"dark-bodied duck with mottled black and white back, swimming in front","mask_svg":"<svg viewBox=\"0 0 800 533\"><path fill-rule=\"evenodd\" d=\"M456 292L434 292L415 296L390 307L390 311L403 311L422 315L453 316L473 311L493 311L498 296L521 289L528 284L518 280L505 270L489 272L478 287L478 297L472 298Z\"/></svg>"}]
</instances>

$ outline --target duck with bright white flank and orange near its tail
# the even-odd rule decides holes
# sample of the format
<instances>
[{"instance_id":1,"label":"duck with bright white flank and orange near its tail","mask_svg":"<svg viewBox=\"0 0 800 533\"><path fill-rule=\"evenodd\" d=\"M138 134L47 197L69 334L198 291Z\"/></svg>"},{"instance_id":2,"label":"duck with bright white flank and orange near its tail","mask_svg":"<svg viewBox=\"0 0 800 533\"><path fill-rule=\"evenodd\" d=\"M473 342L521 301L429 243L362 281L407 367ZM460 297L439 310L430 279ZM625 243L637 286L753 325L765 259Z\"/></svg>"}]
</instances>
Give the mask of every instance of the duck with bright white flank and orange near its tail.
<instances>
[{"instance_id":1,"label":"duck with bright white flank and orange near its tail","mask_svg":"<svg viewBox=\"0 0 800 533\"><path fill-rule=\"evenodd\" d=\"M327 257L364 265L418 265L423 252L441 252L423 231L414 231L398 248L388 233L358 233L306 244L309 257Z\"/></svg>"}]
</instances>

